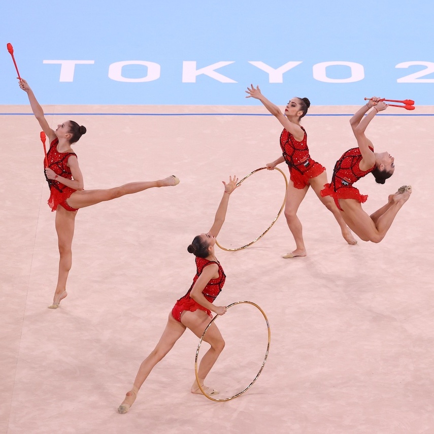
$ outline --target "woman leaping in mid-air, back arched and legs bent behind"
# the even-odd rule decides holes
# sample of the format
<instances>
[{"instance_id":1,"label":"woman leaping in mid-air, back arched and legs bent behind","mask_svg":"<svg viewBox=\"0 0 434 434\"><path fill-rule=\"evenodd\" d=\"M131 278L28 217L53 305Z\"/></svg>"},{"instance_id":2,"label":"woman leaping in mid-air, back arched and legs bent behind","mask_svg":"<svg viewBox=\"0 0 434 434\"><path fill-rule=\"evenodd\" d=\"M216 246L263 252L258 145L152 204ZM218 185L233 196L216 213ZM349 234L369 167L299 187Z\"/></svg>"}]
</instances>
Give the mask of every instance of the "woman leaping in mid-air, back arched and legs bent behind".
<instances>
[{"instance_id":1,"label":"woman leaping in mid-air, back arched and legs bent behind","mask_svg":"<svg viewBox=\"0 0 434 434\"><path fill-rule=\"evenodd\" d=\"M360 194L353 183L372 173L379 184L384 184L395 171L394 158L388 152L374 152L374 146L366 136L365 130L375 115L386 110L387 104L373 96L350 119L351 128L358 148L349 149L337 161L330 184L325 184L321 195L331 196L347 225L363 241L379 243L386 235L397 212L408 201L412 188L410 185L399 187L390 194L386 205L369 216L361 207L367 195ZM371 110L372 109L372 110ZM366 116L365 113L371 110Z\"/></svg>"}]
</instances>

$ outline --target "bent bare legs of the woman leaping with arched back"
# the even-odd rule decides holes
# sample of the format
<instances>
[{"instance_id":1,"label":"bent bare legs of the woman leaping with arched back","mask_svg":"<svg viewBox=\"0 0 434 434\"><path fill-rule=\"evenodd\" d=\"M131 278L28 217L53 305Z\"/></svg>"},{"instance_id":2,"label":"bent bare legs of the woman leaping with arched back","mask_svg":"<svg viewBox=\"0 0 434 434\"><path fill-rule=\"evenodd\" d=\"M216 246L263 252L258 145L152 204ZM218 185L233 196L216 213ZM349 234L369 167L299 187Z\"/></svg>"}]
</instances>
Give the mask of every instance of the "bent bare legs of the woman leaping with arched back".
<instances>
[{"instance_id":1,"label":"bent bare legs of the woman leaping with arched back","mask_svg":"<svg viewBox=\"0 0 434 434\"><path fill-rule=\"evenodd\" d=\"M380 215L380 210L374 213L377 214L376 221L362 210L361 204L358 201L354 199L341 199L340 205L344 210L342 216L348 226L363 241L379 243L385 237L398 211L410 198L411 191L411 187L409 186L404 193L396 193L391 205L389 202L386 206L380 208L383 211L386 209L383 214Z\"/></svg>"}]
</instances>

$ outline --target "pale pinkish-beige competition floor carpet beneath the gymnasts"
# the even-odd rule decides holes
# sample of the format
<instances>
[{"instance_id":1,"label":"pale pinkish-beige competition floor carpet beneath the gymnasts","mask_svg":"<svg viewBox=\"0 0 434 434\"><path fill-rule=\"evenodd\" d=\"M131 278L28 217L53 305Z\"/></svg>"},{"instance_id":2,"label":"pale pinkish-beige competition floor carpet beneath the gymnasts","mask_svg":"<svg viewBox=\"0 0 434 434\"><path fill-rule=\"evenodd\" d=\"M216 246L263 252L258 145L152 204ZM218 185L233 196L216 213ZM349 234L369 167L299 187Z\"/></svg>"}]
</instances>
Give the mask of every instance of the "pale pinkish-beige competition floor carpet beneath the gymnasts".
<instances>
[{"instance_id":1,"label":"pale pinkish-beige competition floor carpet beneath the gymnasts","mask_svg":"<svg viewBox=\"0 0 434 434\"><path fill-rule=\"evenodd\" d=\"M369 194L363 208L373 212L399 186L413 186L380 244L347 245L309 191L298 214L307 257L281 258L295 247L283 215L253 246L216 249L227 275L216 303L252 301L270 321L270 355L251 389L227 403L191 394L198 339L187 330L124 415L118 405L191 284L187 246L210 229L221 181L276 159L281 127L262 107L44 107L52 126L73 119L87 127L74 145L86 189L172 174L181 180L80 210L69 295L50 310L55 215L29 110L0 110L0 432L434 432L434 108L411 115L389 108L368 128L376 150L395 157L396 171L385 185L369 175L358 182ZM348 122L356 110L313 107L303 120L311 155L329 179L356 146ZM231 195L219 242L237 247L256 238L283 194L277 171L250 177ZM216 323L226 347L206 383L223 397L253 379L266 326L248 306Z\"/></svg>"}]
</instances>

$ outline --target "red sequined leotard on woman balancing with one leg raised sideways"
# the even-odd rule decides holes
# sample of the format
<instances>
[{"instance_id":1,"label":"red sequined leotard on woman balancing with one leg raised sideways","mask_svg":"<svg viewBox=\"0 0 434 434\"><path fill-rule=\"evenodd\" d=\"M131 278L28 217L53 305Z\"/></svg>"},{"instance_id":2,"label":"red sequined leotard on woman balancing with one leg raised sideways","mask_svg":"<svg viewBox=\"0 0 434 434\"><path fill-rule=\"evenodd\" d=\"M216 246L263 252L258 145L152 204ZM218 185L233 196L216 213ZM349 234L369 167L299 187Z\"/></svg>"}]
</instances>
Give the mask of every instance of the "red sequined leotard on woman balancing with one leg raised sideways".
<instances>
[{"instance_id":1,"label":"red sequined leotard on woman balancing with one leg raised sideways","mask_svg":"<svg viewBox=\"0 0 434 434\"><path fill-rule=\"evenodd\" d=\"M59 139L54 139L50 144L50 149L47 152L48 167L54 171L56 175L59 175L63 178L72 179L71 169L68 167L68 159L71 157L71 155L77 155L74 152L58 152L58 143ZM54 179L47 179L47 181L48 185L50 186L51 193L50 198L48 199L48 205L50 206L51 211L56 211L58 205L62 206L67 211L77 211L66 203L66 199L68 199L68 197L70 197L71 194L77 190L66 187L66 185L63 185Z\"/></svg>"}]
</instances>

